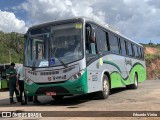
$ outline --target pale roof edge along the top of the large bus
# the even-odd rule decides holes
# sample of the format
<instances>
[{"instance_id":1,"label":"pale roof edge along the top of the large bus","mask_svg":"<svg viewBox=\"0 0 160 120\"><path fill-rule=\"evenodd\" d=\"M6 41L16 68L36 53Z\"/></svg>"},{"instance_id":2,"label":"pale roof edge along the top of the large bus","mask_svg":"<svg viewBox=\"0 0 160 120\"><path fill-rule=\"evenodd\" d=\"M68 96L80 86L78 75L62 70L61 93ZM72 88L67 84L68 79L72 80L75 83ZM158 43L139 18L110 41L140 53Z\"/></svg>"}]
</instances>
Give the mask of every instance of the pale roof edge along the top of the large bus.
<instances>
[{"instance_id":1,"label":"pale roof edge along the top of the large bus","mask_svg":"<svg viewBox=\"0 0 160 120\"><path fill-rule=\"evenodd\" d=\"M116 30L115 28L113 28L112 26L110 26L109 24L104 24L104 23L100 23L96 20L93 20L91 18L88 18L88 17L75 17L75 18L71 18L71 19L64 19L64 20L57 20L57 21L52 21L52 22L47 22L47 23L42 23L42 24L39 24L39 25L35 25L35 26L32 26L29 28L30 29L34 29L34 28L38 28L38 27L44 27L44 26L49 26L49 25L58 25L58 24L65 24L65 23L68 23L68 22L76 22L76 21L86 21L86 22L93 22L95 24L98 24L99 26L119 35L119 36L122 36L123 38L143 47L141 44L129 39L128 37L122 35L118 30Z\"/></svg>"}]
</instances>

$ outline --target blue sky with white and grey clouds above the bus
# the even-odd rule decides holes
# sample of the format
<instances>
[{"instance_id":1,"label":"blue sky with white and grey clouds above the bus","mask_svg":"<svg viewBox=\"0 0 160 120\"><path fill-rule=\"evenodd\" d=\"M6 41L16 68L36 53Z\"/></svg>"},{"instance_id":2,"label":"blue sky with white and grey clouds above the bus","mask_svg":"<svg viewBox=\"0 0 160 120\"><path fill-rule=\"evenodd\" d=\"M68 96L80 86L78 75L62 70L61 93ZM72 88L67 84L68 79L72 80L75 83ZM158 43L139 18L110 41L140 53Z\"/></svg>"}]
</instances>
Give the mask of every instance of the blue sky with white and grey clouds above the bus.
<instances>
[{"instance_id":1,"label":"blue sky with white and grey clouds above the bus","mask_svg":"<svg viewBox=\"0 0 160 120\"><path fill-rule=\"evenodd\" d=\"M160 43L160 0L0 0L0 31L77 16L113 26L138 43Z\"/></svg>"}]
</instances>

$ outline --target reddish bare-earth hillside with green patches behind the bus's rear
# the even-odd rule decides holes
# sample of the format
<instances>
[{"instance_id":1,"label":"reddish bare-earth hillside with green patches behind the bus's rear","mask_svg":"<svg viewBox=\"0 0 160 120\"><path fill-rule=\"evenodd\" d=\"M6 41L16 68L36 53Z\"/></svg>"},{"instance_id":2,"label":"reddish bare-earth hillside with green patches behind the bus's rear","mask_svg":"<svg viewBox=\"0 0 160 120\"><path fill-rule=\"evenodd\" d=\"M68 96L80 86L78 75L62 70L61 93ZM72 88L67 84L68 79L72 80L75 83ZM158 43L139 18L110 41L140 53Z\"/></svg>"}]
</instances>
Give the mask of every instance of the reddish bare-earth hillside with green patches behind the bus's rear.
<instances>
[{"instance_id":1,"label":"reddish bare-earth hillside with green patches behind the bus's rear","mask_svg":"<svg viewBox=\"0 0 160 120\"><path fill-rule=\"evenodd\" d=\"M145 60L147 67L147 79L160 78L160 46L145 45Z\"/></svg>"}]
</instances>

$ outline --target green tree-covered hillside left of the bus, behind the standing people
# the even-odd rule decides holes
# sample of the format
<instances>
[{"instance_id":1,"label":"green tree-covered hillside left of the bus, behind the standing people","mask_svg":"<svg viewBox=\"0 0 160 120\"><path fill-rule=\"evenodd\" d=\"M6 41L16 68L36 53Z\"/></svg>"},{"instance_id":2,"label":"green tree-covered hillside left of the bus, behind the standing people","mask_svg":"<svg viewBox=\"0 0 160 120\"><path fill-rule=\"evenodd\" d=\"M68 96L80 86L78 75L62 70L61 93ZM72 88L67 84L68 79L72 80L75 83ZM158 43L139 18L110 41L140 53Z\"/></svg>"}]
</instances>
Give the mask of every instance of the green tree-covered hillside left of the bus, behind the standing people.
<instances>
[{"instance_id":1,"label":"green tree-covered hillside left of the bus, behind the standing people","mask_svg":"<svg viewBox=\"0 0 160 120\"><path fill-rule=\"evenodd\" d=\"M0 31L0 64L19 63L23 59L23 34L4 33Z\"/></svg>"}]
</instances>

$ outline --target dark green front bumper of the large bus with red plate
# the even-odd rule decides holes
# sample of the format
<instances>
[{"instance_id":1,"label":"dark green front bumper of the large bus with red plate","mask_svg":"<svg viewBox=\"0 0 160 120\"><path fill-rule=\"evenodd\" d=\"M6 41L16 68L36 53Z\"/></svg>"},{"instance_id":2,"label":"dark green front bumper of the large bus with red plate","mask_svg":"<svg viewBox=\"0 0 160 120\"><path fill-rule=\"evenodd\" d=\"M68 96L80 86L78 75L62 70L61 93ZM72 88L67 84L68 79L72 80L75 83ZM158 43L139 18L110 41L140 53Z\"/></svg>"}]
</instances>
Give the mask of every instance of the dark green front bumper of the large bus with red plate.
<instances>
[{"instance_id":1,"label":"dark green front bumper of the large bus with red plate","mask_svg":"<svg viewBox=\"0 0 160 120\"><path fill-rule=\"evenodd\" d=\"M87 73L85 72L79 79L75 81L67 80L63 83L37 84L32 82L28 84L24 82L24 89L27 96L38 95L73 95L85 94L88 92Z\"/></svg>"}]
</instances>

